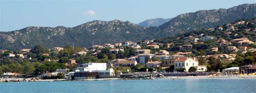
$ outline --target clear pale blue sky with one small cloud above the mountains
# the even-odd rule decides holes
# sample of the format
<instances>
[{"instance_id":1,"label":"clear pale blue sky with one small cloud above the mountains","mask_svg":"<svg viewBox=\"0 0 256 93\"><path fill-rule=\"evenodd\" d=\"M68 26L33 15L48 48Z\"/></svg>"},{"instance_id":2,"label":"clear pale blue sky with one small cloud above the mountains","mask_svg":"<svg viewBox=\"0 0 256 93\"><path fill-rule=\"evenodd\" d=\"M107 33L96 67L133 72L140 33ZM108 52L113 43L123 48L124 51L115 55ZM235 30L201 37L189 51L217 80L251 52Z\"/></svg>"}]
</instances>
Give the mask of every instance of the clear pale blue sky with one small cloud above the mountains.
<instances>
[{"instance_id":1,"label":"clear pale blue sky with one small cloud above the mountains","mask_svg":"<svg viewBox=\"0 0 256 93\"><path fill-rule=\"evenodd\" d=\"M229 8L256 0L0 0L0 31L28 26L75 27L93 20L132 23Z\"/></svg>"}]
</instances>

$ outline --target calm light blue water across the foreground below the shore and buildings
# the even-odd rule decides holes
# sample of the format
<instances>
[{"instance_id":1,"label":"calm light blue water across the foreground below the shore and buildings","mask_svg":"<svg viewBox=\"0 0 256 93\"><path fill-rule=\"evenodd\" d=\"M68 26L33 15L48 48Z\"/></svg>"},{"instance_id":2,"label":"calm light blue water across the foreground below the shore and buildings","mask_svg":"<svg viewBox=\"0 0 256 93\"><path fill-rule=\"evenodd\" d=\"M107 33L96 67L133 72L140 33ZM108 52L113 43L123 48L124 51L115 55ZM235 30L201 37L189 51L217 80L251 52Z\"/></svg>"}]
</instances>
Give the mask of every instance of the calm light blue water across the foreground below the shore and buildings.
<instances>
[{"instance_id":1,"label":"calm light blue water across the foreground below the shore and buildings","mask_svg":"<svg viewBox=\"0 0 256 93\"><path fill-rule=\"evenodd\" d=\"M8 82L0 93L256 93L256 79Z\"/></svg>"}]
</instances>

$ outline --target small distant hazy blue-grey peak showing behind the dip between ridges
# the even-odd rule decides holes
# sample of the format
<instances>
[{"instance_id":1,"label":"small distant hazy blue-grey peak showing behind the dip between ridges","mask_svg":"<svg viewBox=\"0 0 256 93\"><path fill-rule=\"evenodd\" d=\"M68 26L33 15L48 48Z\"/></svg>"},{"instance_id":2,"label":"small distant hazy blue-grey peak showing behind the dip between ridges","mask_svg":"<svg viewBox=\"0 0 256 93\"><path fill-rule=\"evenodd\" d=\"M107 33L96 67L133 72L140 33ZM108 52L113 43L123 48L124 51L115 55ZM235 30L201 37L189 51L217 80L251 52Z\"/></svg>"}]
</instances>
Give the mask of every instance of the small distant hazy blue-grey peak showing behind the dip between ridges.
<instances>
[{"instance_id":1,"label":"small distant hazy blue-grey peak showing behind the dip between ridges","mask_svg":"<svg viewBox=\"0 0 256 93\"><path fill-rule=\"evenodd\" d=\"M158 27L158 26L164 24L165 22L168 22L171 19L172 18L169 18L169 19L164 19L164 18L149 19L149 20L145 20L145 21L140 22L138 24L138 26L142 26L142 27Z\"/></svg>"}]
</instances>

